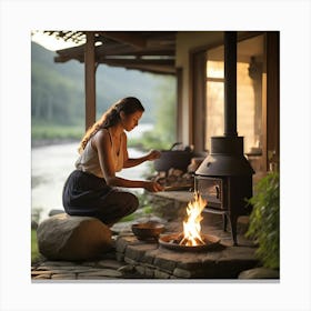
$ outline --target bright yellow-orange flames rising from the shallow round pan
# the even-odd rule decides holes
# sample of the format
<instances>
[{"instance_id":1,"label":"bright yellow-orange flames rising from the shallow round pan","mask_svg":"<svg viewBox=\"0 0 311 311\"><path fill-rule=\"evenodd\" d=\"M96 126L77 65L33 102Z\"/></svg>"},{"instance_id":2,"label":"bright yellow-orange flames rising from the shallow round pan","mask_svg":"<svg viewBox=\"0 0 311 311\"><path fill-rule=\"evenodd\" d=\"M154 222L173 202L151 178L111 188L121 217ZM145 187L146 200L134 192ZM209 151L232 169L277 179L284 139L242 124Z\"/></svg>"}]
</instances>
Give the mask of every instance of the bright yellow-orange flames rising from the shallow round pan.
<instances>
[{"instance_id":1,"label":"bright yellow-orange flames rising from the shallow round pan","mask_svg":"<svg viewBox=\"0 0 311 311\"><path fill-rule=\"evenodd\" d=\"M201 212L207 205L207 201L200 195L198 191L193 194L194 199L188 203L187 218L183 221L183 239L180 245L195 247L205 244L201 238L201 220L203 217Z\"/></svg>"}]
</instances>

